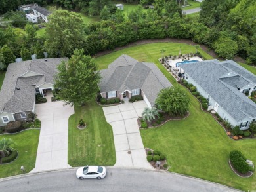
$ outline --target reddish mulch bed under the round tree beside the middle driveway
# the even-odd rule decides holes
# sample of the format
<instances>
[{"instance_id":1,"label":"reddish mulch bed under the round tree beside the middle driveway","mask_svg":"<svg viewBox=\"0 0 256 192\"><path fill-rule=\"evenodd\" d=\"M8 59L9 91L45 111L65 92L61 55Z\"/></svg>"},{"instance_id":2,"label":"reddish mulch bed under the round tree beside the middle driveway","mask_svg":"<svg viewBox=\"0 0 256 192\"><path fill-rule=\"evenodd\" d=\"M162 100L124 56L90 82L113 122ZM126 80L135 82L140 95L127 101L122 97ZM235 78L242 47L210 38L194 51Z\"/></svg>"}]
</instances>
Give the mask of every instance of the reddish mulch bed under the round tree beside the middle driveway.
<instances>
[{"instance_id":1,"label":"reddish mulch bed under the round tree beside the middle driveway","mask_svg":"<svg viewBox=\"0 0 256 192\"><path fill-rule=\"evenodd\" d=\"M151 122L146 122L148 124L148 128L158 127L160 125L165 124L167 121L170 120L179 120L179 119L185 119L188 117L189 112L186 113L186 115L169 115L168 113L160 113L162 114L162 117L156 117L156 119L153 119ZM158 121L160 119L160 121ZM139 128L141 128L141 118L137 119L137 123L139 125Z\"/></svg>"}]
</instances>

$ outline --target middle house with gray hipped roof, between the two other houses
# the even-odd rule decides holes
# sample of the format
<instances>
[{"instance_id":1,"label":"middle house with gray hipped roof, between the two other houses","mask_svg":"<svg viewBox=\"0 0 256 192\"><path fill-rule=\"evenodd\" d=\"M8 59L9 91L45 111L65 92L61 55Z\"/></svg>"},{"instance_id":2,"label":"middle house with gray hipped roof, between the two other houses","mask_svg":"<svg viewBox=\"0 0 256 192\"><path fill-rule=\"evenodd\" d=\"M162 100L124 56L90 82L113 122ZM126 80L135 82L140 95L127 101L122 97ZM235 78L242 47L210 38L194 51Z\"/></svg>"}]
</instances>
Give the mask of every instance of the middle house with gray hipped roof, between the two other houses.
<instances>
[{"instance_id":1,"label":"middle house with gray hipped roof, between the two other houses","mask_svg":"<svg viewBox=\"0 0 256 192\"><path fill-rule=\"evenodd\" d=\"M171 83L155 64L138 62L125 54L112 62L108 69L100 71L102 79L99 83L102 98L131 98L142 95L148 107L154 102L163 88Z\"/></svg>"}]
</instances>

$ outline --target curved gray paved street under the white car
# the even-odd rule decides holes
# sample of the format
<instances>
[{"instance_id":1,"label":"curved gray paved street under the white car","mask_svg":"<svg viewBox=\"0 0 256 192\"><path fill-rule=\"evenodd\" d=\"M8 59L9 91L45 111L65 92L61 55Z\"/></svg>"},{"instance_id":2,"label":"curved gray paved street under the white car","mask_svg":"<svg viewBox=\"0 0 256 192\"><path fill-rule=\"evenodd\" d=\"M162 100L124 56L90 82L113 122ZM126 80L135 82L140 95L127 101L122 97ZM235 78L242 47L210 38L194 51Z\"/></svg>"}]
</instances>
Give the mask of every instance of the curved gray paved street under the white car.
<instances>
[{"instance_id":1,"label":"curved gray paved street under the white car","mask_svg":"<svg viewBox=\"0 0 256 192\"><path fill-rule=\"evenodd\" d=\"M75 171L62 170L45 172L0 180L3 191L237 191L216 183L188 178L179 174L136 170L124 168L107 168L106 178L102 180L79 180Z\"/></svg>"}]
</instances>

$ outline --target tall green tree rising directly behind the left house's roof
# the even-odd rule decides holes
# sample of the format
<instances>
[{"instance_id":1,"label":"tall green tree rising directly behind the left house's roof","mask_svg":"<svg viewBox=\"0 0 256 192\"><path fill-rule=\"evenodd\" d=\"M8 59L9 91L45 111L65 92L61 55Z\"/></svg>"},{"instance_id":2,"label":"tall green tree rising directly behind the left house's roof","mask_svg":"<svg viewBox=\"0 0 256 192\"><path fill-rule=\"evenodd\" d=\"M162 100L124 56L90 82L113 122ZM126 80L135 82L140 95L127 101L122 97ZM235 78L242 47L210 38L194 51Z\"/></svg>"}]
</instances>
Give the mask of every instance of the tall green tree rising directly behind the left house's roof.
<instances>
[{"instance_id":1,"label":"tall green tree rising directly behind the left house's roof","mask_svg":"<svg viewBox=\"0 0 256 192\"><path fill-rule=\"evenodd\" d=\"M49 16L45 31L45 47L52 56L71 56L75 48L83 47L81 14L56 10Z\"/></svg>"}]
</instances>

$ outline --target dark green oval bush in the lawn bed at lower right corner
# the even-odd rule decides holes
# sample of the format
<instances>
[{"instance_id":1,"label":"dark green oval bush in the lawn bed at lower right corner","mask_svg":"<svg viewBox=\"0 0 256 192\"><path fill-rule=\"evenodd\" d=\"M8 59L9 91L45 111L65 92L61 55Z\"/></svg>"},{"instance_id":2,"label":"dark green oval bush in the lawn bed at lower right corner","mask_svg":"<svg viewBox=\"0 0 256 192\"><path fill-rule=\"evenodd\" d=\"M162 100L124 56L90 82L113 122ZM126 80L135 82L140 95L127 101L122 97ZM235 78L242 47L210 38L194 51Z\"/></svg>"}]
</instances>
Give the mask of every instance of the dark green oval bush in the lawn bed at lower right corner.
<instances>
[{"instance_id":1,"label":"dark green oval bush in the lawn bed at lower right corner","mask_svg":"<svg viewBox=\"0 0 256 192\"><path fill-rule=\"evenodd\" d=\"M251 170L249 164L246 163L246 158L242 155L241 151L234 150L229 155L230 163L240 173L245 174Z\"/></svg>"}]
</instances>

